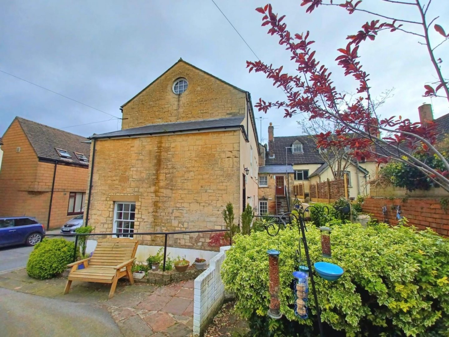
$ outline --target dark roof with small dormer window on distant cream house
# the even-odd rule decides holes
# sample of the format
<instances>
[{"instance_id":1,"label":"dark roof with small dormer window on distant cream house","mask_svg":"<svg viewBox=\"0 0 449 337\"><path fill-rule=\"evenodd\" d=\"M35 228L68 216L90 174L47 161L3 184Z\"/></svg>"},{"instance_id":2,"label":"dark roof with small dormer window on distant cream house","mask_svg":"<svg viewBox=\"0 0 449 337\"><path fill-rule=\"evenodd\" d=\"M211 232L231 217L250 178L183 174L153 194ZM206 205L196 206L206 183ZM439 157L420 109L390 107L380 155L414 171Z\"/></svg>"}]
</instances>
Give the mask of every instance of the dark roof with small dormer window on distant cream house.
<instances>
[{"instance_id":1,"label":"dark roof with small dormer window on distant cream house","mask_svg":"<svg viewBox=\"0 0 449 337\"><path fill-rule=\"evenodd\" d=\"M292 153L291 147L293 142L299 140L303 144L303 153ZM287 159L287 160L286 160ZM273 164L322 164L324 160L321 158L317 149L317 144L311 136L288 136L288 137L274 137L274 158L269 158L267 151L265 157L265 165Z\"/></svg>"}]
</instances>

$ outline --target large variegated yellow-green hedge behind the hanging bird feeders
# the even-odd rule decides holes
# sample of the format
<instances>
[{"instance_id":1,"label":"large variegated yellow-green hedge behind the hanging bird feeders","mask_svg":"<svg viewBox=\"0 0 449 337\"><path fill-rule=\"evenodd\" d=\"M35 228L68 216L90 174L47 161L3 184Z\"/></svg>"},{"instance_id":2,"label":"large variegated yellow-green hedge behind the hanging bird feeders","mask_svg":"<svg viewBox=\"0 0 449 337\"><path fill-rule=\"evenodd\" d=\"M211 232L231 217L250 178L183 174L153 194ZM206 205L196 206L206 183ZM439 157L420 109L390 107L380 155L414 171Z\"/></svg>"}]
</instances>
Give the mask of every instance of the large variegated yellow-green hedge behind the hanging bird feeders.
<instances>
[{"instance_id":1,"label":"large variegated yellow-green hedge behind the hanging bird feeders","mask_svg":"<svg viewBox=\"0 0 449 337\"><path fill-rule=\"evenodd\" d=\"M320 232L306 233L313 262L321 257ZM309 319L293 311L291 290L297 228L237 235L226 253L222 278L236 295L238 314L248 319L254 336L316 336L312 293ZM386 224L362 228L333 225L332 256L345 274L335 282L316 277L321 318L328 336L449 336L449 242L431 231ZM267 318L269 248L280 254L280 300L284 318ZM304 250L303 250L304 252ZM304 255L303 255L304 259ZM305 264L305 261L302 262Z\"/></svg>"}]
</instances>

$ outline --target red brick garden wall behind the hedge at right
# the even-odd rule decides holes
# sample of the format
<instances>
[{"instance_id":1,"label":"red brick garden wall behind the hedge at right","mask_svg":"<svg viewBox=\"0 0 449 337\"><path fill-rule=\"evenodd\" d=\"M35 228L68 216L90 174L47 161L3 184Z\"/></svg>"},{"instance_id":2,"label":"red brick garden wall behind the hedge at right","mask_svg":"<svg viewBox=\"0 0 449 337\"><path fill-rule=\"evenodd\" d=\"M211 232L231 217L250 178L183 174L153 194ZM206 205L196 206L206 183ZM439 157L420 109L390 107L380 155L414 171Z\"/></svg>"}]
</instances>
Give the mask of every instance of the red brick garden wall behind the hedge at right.
<instances>
[{"instance_id":1,"label":"red brick garden wall behind the hedge at right","mask_svg":"<svg viewBox=\"0 0 449 337\"><path fill-rule=\"evenodd\" d=\"M396 209L391 205L401 206L401 216L409 220L409 224L419 229L430 227L440 235L449 235L449 209L441 209L439 199L387 199L387 198L366 198L362 204L365 213L373 214L373 217L380 222L387 222L390 225L397 225ZM382 213L382 207L387 206L387 215Z\"/></svg>"}]
</instances>

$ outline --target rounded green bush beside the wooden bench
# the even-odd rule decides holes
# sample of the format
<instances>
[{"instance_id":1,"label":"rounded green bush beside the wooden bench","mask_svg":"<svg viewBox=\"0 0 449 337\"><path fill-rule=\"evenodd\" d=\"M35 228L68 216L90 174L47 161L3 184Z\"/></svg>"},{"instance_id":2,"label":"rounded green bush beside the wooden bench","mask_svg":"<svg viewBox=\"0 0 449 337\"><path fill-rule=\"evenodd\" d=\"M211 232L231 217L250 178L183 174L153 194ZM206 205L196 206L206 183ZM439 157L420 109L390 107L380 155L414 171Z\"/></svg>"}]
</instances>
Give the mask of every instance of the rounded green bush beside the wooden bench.
<instances>
[{"instance_id":1,"label":"rounded green bush beside the wooden bench","mask_svg":"<svg viewBox=\"0 0 449 337\"><path fill-rule=\"evenodd\" d=\"M50 279L72 262L74 249L75 244L65 239L44 239L31 252L26 272L35 279Z\"/></svg>"}]
</instances>

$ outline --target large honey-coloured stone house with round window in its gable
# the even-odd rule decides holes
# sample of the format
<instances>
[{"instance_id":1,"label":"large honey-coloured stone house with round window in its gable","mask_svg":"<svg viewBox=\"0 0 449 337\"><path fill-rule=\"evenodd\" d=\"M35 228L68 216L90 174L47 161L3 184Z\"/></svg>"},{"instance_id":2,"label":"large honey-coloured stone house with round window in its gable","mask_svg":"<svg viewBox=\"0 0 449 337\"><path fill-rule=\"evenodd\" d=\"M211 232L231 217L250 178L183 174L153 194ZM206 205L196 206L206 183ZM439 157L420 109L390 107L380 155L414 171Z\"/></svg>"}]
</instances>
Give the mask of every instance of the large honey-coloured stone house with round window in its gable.
<instances>
[{"instance_id":1,"label":"large honey-coloured stone house with round window in its gable","mask_svg":"<svg viewBox=\"0 0 449 337\"><path fill-rule=\"evenodd\" d=\"M180 59L122 112L121 130L90 137L86 214L97 231L221 229L228 202L236 214L257 207L260 151L248 92ZM145 239L161 244L163 236ZM207 248L209 235L168 239Z\"/></svg>"}]
</instances>

